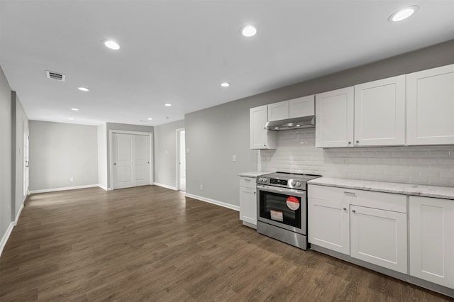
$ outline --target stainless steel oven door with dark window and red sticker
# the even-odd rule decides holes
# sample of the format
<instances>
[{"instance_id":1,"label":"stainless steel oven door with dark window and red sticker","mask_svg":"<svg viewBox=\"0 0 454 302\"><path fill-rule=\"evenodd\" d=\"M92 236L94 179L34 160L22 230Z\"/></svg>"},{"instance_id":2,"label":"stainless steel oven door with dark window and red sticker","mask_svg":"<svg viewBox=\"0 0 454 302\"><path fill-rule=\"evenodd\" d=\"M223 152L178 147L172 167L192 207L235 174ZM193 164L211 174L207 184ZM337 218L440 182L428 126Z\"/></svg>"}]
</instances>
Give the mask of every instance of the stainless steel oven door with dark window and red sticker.
<instances>
[{"instance_id":1,"label":"stainless steel oven door with dark window and red sticker","mask_svg":"<svg viewBox=\"0 0 454 302\"><path fill-rule=\"evenodd\" d=\"M306 191L257 185L257 219L306 234Z\"/></svg>"}]
</instances>

